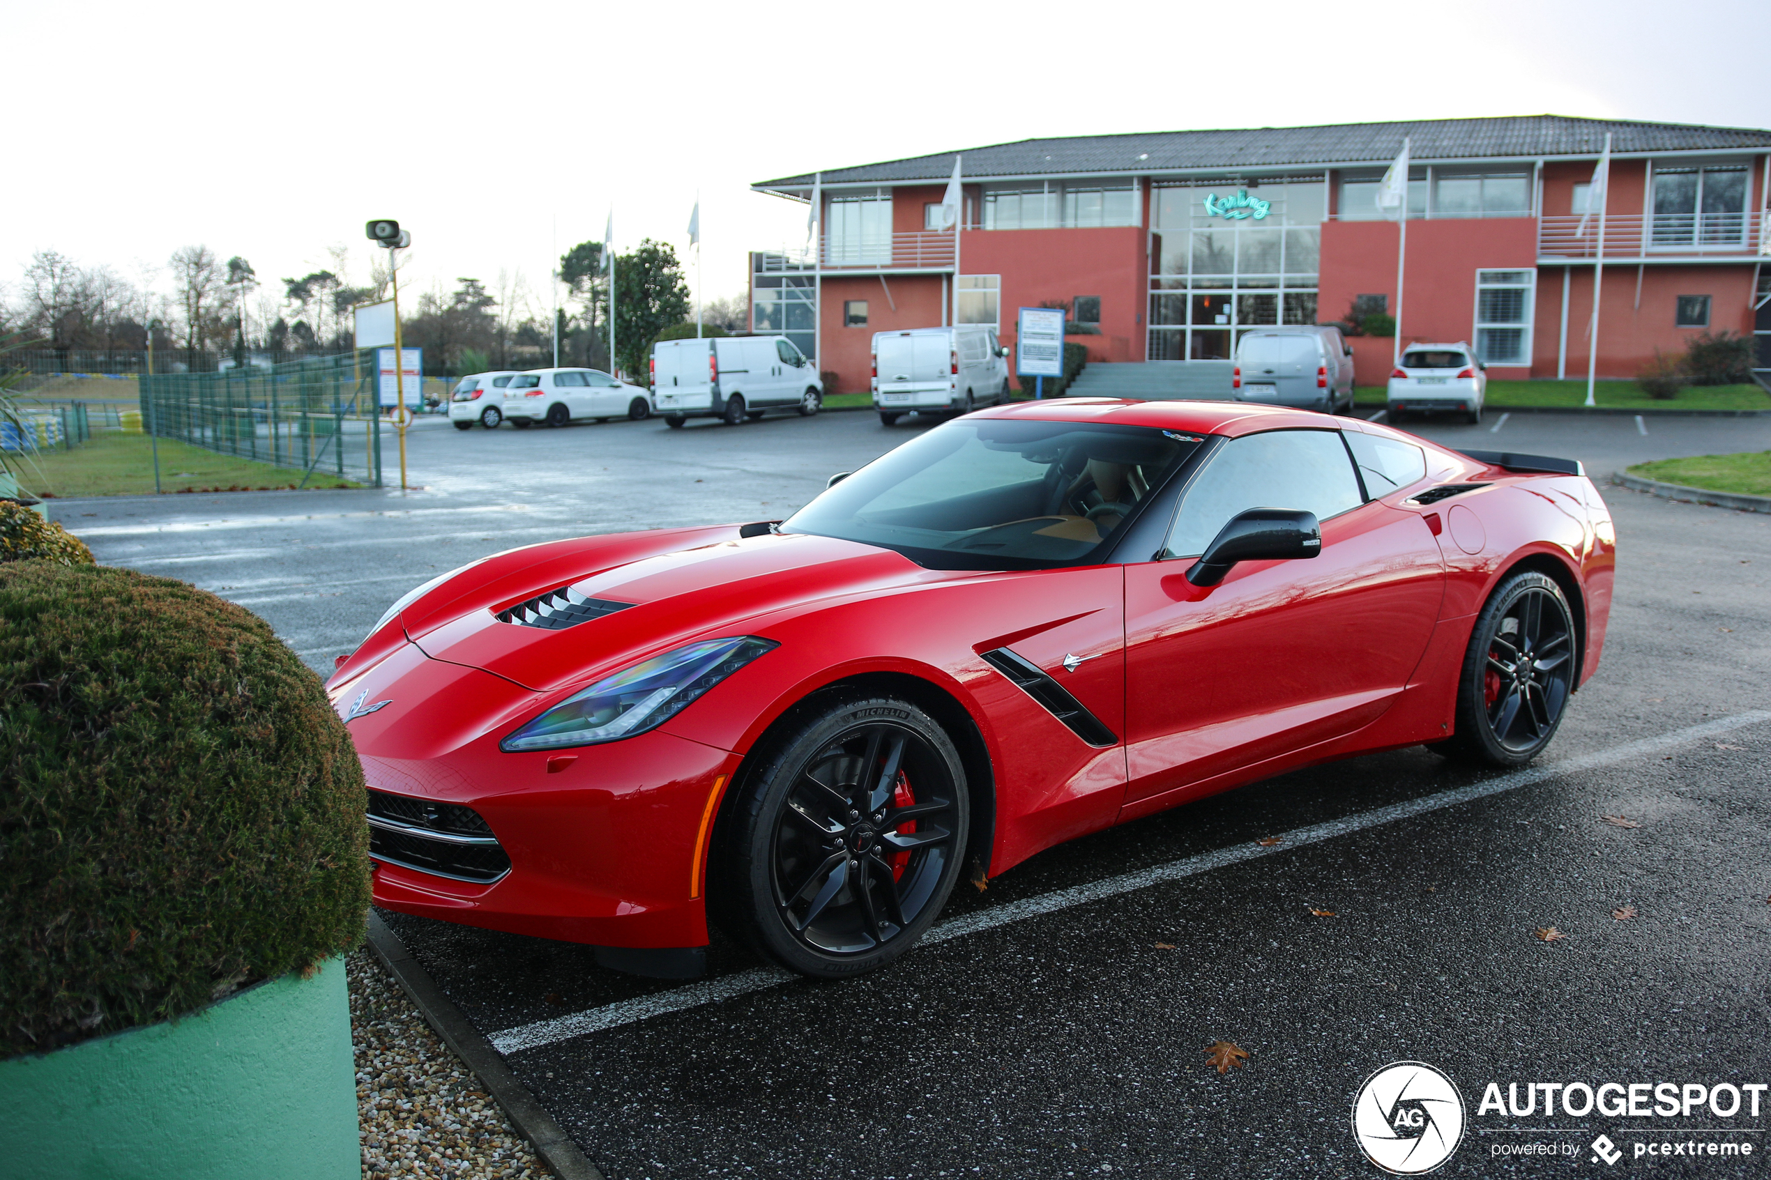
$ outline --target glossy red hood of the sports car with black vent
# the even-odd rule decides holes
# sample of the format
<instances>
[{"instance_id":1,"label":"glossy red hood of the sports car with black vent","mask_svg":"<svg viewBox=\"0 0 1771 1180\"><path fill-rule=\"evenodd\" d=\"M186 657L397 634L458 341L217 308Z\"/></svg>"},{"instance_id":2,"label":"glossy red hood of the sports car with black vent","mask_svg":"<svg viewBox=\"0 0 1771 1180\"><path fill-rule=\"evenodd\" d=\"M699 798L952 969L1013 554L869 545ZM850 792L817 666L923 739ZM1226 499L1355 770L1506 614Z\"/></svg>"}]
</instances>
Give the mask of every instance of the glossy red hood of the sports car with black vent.
<instances>
[{"instance_id":1,"label":"glossy red hood of the sports car with black vent","mask_svg":"<svg viewBox=\"0 0 1771 1180\"><path fill-rule=\"evenodd\" d=\"M616 564L583 557L583 573L561 570L561 559L537 561L533 577L501 568L462 571L450 605L406 612L406 635L432 660L483 669L537 692L549 692L607 674L650 653L708 633L742 633L746 621L806 603L877 594L953 573L923 570L901 554L808 534L737 538L735 529L714 531L705 541L636 556ZM641 534L643 536L643 534ZM609 538L616 540L616 538ZM519 554L522 550L517 550ZM508 556L503 556L508 557ZM496 559L494 559L496 561ZM491 564L491 563L489 563ZM498 584L494 596L475 593L475 582ZM498 617L540 594L570 587L584 598L629 603L620 610L560 630L507 623ZM439 587L427 598L452 589Z\"/></svg>"}]
</instances>

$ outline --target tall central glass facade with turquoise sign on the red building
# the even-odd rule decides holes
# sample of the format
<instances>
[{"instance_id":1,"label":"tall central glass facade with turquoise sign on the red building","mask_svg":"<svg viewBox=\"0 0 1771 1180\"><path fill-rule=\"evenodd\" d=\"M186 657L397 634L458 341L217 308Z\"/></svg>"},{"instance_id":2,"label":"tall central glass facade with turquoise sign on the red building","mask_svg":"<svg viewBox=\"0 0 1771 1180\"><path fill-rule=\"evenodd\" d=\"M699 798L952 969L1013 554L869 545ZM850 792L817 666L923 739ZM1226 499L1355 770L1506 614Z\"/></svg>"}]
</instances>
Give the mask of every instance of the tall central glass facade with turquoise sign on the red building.
<instances>
[{"instance_id":1,"label":"tall central glass facade with turquoise sign on the red building","mask_svg":"<svg viewBox=\"0 0 1771 1180\"><path fill-rule=\"evenodd\" d=\"M1227 361L1249 327L1316 322L1323 177L1151 189L1149 359Z\"/></svg>"}]
</instances>

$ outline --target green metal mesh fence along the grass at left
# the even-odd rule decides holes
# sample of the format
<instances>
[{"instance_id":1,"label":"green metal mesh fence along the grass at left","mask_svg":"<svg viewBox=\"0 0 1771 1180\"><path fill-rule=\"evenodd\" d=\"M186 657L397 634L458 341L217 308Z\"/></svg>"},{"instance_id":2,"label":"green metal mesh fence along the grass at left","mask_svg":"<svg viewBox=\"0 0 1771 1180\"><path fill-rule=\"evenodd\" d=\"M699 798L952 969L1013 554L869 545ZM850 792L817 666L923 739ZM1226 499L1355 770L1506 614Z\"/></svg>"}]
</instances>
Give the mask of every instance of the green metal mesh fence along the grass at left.
<instances>
[{"instance_id":1,"label":"green metal mesh fence along the grass at left","mask_svg":"<svg viewBox=\"0 0 1771 1180\"><path fill-rule=\"evenodd\" d=\"M358 356L142 375L142 421L161 439L220 455L381 487L381 414L372 363Z\"/></svg>"}]
</instances>

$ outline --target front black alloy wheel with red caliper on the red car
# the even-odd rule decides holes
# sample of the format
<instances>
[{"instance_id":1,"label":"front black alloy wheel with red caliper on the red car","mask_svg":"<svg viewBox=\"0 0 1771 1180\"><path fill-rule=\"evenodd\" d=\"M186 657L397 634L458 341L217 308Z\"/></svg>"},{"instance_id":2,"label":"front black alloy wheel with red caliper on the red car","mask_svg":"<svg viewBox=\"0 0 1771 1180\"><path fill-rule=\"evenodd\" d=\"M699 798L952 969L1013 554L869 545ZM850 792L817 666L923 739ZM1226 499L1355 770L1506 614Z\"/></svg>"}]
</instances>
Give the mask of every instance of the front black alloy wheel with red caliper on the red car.
<instances>
[{"instance_id":1,"label":"front black alloy wheel with red caliper on the red car","mask_svg":"<svg viewBox=\"0 0 1771 1180\"><path fill-rule=\"evenodd\" d=\"M923 709L834 695L806 708L721 816L724 925L815 978L891 962L947 902L967 837L965 768Z\"/></svg>"}]
</instances>

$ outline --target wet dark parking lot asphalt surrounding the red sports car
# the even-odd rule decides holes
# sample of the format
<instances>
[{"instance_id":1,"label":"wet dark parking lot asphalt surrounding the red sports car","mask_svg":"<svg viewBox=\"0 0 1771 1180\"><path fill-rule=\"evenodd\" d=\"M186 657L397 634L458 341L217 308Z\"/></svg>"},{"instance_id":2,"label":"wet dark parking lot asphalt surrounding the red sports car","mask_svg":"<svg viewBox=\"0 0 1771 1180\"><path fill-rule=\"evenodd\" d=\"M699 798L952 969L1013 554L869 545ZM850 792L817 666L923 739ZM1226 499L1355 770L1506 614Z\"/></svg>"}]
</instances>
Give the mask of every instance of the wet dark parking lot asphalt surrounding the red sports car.
<instances>
[{"instance_id":1,"label":"wet dark parking lot asphalt surrounding the red sports car","mask_svg":"<svg viewBox=\"0 0 1771 1180\"><path fill-rule=\"evenodd\" d=\"M1493 426L1422 433L1594 474L1771 446L1762 419ZM554 536L779 517L917 428L420 428L425 492L53 513L101 561L214 589L329 667L441 570ZM1610 1171L1589 1162L1601 1132L1626 1150L1617 1171L1640 1171L1633 1143L1698 1130L1757 1155L1654 1173L1762 1175L1771 1095L1730 1118L1477 1111L1489 1081L1771 1081L1771 517L1605 495L1620 538L1605 662L1534 773L1413 748L1254 784L962 886L949 936L843 984L779 982L724 939L710 982L682 985L565 943L390 925L620 1180L1376 1175L1348 1116L1397 1060L1463 1093L1443 1175ZM1550 927L1566 938L1534 936ZM1247 1063L1210 1069L1218 1040ZM1505 1150L1521 1143L1578 1153Z\"/></svg>"}]
</instances>

